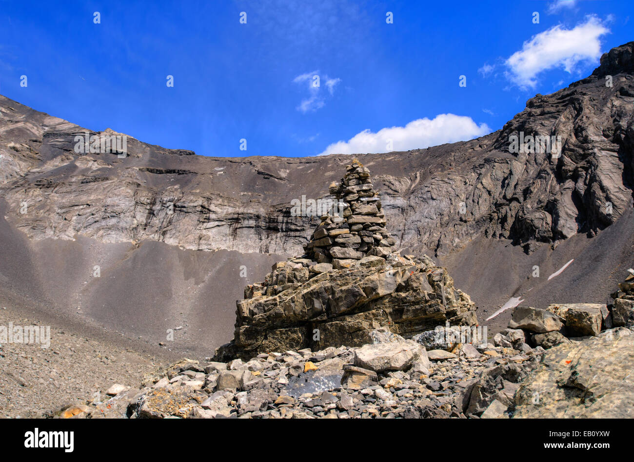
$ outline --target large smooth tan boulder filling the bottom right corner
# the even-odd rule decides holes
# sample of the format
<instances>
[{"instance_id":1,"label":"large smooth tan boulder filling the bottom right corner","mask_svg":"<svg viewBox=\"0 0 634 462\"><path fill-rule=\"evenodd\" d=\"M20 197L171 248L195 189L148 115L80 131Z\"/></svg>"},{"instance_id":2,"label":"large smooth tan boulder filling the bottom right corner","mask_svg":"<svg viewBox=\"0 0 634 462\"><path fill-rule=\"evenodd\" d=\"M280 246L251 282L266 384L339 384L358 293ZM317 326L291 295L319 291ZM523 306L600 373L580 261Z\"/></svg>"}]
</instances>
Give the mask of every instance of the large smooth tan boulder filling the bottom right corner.
<instances>
[{"instance_id":1,"label":"large smooth tan boulder filling the bottom right corner","mask_svg":"<svg viewBox=\"0 0 634 462\"><path fill-rule=\"evenodd\" d=\"M515 418L631 418L633 333L623 327L547 350L515 395Z\"/></svg>"}]
</instances>

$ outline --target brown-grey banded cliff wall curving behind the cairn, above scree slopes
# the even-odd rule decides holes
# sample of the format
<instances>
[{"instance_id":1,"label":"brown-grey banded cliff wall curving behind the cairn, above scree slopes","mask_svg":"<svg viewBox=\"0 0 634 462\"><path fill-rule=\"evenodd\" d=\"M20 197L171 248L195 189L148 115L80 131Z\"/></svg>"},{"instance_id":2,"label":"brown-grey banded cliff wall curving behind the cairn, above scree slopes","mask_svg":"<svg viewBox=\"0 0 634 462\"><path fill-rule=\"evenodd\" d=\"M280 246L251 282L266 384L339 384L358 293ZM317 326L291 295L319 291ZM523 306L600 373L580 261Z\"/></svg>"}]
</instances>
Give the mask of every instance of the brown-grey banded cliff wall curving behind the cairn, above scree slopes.
<instances>
[{"instance_id":1,"label":"brown-grey banded cliff wall curving behind the cairn, above scree slopes","mask_svg":"<svg viewBox=\"0 0 634 462\"><path fill-rule=\"evenodd\" d=\"M469 248L491 240L530 254L540 242L558 244L595 235L623 217L631 221L633 46L612 49L586 79L531 98L490 135L358 155L373 173L396 247L458 261L456 254L469 256ZM126 157L84 154L75 152L83 128L1 96L0 111L3 215L32 245L87 237L98 246L131 245L131 253L139 243L159 241L181 249L301 254L319 217L294 216L291 201L332 197L327 185L350 159L202 157L131 137ZM559 140L560 149L535 149L528 136ZM254 281L264 276L258 271ZM460 277L457 286L479 305L489 303ZM228 296L239 298L238 287ZM232 310L233 300L226 305Z\"/></svg>"}]
</instances>

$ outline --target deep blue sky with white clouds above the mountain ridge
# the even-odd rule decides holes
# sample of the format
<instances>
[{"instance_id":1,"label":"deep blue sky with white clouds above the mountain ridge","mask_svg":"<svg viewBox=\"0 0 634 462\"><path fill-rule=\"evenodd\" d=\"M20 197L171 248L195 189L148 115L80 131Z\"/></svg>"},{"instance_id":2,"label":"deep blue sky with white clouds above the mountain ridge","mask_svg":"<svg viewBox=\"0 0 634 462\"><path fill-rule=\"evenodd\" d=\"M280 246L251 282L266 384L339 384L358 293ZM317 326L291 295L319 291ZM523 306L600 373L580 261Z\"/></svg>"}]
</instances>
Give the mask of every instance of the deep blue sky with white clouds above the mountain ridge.
<instances>
[{"instance_id":1,"label":"deep blue sky with white clouds above the mountain ridge","mask_svg":"<svg viewBox=\"0 0 634 462\"><path fill-rule=\"evenodd\" d=\"M417 149L495 131L535 93L587 76L634 40L633 11L630 0L0 0L0 94L199 155Z\"/></svg>"}]
</instances>

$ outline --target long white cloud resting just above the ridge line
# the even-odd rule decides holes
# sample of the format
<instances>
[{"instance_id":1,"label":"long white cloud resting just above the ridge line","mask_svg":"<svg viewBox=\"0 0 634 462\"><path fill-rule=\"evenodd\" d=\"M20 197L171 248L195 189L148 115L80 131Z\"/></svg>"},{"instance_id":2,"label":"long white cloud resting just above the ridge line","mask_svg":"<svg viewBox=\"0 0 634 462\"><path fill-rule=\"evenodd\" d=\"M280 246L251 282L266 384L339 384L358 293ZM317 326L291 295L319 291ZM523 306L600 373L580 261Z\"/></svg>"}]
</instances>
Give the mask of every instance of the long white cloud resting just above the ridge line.
<instances>
[{"instance_id":1,"label":"long white cloud resting just above the ridge line","mask_svg":"<svg viewBox=\"0 0 634 462\"><path fill-rule=\"evenodd\" d=\"M321 154L363 154L366 152L424 149L444 143L471 140L491 133L487 124L476 124L471 117L439 114L434 119L417 119L404 127L370 129L352 138L329 145Z\"/></svg>"}]
</instances>

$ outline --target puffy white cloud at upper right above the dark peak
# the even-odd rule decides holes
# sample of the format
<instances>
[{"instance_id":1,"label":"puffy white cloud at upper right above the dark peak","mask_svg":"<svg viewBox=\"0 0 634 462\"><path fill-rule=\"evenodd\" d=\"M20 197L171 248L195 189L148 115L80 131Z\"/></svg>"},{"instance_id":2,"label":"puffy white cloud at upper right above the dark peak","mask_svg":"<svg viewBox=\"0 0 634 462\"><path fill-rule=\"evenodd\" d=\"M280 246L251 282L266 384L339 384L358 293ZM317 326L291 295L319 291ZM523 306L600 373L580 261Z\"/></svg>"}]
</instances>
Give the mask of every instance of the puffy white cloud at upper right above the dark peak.
<instances>
[{"instance_id":1,"label":"puffy white cloud at upper right above the dark peak","mask_svg":"<svg viewBox=\"0 0 634 462\"><path fill-rule=\"evenodd\" d=\"M508 58L506 75L517 86L534 88L536 76L544 70L562 67L572 73L580 62L598 62L601 56L599 37L609 32L595 16L586 18L586 22L573 29L555 25L531 37L520 51Z\"/></svg>"}]
</instances>

